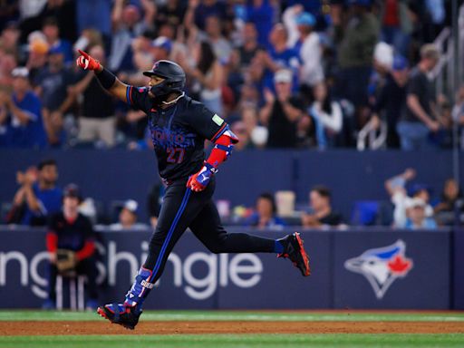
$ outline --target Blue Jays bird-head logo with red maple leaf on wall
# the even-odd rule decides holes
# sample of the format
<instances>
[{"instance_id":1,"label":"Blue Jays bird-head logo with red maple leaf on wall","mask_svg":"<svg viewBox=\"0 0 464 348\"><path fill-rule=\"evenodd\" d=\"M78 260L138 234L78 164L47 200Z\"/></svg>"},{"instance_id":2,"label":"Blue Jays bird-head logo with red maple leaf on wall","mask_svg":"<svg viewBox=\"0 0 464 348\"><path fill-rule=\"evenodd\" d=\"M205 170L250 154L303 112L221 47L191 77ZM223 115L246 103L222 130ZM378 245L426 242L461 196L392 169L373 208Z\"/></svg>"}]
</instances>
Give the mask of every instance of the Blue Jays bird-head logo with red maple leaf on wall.
<instances>
[{"instance_id":1,"label":"Blue Jays bird-head logo with red maple leaf on wall","mask_svg":"<svg viewBox=\"0 0 464 348\"><path fill-rule=\"evenodd\" d=\"M411 271L411 258L405 256L406 244L401 240L388 247L364 251L360 256L344 263L349 271L364 275L372 286L377 299L382 299L390 285Z\"/></svg>"}]
</instances>

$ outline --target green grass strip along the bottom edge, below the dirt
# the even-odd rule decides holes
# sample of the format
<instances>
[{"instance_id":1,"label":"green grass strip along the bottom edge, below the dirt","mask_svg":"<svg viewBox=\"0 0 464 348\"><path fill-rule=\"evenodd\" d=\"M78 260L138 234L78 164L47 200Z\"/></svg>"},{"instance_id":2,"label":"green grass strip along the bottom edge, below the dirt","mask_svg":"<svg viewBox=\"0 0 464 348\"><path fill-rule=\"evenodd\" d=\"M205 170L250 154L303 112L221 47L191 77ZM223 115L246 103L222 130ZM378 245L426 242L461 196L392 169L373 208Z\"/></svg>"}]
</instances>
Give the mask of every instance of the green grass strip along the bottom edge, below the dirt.
<instances>
[{"instance_id":1,"label":"green grass strip along the bottom edge, below the dirt","mask_svg":"<svg viewBox=\"0 0 464 348\"><path fill-rule=\"evenodd\" d=\"M462 347L464 334L202 334L0 337L0 347Z\"/></svg>"}]
</instances>

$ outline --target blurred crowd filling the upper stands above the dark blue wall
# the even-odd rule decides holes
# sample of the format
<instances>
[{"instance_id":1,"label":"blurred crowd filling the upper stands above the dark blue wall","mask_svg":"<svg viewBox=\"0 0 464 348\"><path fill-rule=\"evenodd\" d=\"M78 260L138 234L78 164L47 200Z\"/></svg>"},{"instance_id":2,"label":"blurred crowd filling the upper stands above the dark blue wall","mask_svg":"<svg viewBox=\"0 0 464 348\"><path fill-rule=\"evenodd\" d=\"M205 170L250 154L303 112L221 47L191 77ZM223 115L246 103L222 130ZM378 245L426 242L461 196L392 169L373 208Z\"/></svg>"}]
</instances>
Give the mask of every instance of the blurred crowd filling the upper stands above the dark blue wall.
<instances>
[{"instance_id":1,"label":"blurred crowd filling the upper stands above the dark blue wall","mask_svg":"<svg viewBox=\"0 0 464 348\"><path fill-rule=\"evenodd\" d=\"M231 124L237 150L354 147L367 122L386 130L384 148L449 148L464 90L437 95L428 78L447 4L4 1L0 147L150 148L145 115L76 69L81 49L135 86L154 61L179 63L189 95Z\"/></svg>"}]
</instances>

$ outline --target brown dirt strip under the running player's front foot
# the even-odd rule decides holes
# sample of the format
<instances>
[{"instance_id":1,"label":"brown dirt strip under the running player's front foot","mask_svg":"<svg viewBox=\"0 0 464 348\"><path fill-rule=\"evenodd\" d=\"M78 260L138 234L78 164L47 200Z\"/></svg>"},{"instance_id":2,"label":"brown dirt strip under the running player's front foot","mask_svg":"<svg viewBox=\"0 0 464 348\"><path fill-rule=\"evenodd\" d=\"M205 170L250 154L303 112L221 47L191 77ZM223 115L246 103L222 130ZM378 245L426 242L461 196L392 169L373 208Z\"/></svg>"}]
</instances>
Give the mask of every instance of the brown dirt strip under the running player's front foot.
<instances>
[{"instance_id":1,"label":"brown dirt strip under the running player's front foot","mask_svg":"<svg viewBox=\"0 0 464 348\"><path fill-rule=\"evenodd\" d=\"M0 335L176 333L464 333L464 323L444 322L140 322L129 331L109 322L0 322Z\"/></svg>"}]
</instances>

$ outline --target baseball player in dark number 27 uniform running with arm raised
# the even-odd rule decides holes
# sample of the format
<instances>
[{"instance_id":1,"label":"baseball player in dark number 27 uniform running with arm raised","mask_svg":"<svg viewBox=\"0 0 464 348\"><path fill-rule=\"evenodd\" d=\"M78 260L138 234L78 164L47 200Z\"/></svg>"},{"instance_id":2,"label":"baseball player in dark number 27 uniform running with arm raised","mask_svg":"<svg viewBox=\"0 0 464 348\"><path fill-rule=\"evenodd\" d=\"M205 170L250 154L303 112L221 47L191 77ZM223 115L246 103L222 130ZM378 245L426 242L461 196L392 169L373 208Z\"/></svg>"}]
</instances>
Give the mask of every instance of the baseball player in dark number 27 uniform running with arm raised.
<instances>
[{"instance_id":1,"label":"baseball player in dark number 27 uniform running with arm raised","mask_svg":"<svg viewBox=\"0 0 464 348\"><path fill-rule=\"evenodd\" d=\"M138 88L122 83L88 53L79 53L77 65L92 70L103 88L147 113L160 177L167 186L145 263L124 302L101 306L99 314L111 323L133 329L139 322L144 299L187 227L215 254L276 253L289 258L304 276L310 274L308 256L298 233L274 240L228 234L222 227L212 200L215 176L219 165L230 156L237 136L226 121L184 92L186 75L177 63L155 62L152 70L143 73L150 77L148 86ZM214 143L208 160L205 140Z\"/></svg>"}]
</instances>

